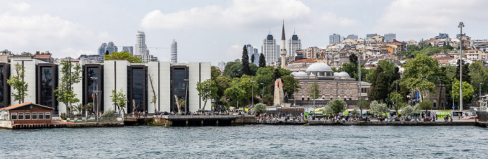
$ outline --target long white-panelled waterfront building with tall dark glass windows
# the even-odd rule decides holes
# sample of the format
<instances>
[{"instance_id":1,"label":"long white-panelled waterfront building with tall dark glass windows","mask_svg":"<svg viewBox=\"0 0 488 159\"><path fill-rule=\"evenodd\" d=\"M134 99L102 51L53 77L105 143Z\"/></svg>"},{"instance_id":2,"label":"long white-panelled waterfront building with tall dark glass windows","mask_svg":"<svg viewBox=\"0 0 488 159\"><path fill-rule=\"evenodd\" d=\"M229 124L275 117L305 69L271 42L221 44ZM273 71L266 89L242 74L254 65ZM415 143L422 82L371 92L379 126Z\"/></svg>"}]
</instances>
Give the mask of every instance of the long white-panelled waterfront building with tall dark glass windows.
<instances>
[{"instance_id":1,"label":"long white-panelled waterfront building with tall dark glass windows","mask_svg":"<svg viewBox=\"0 0 488 159\"><path fill-rule=\"evenodd\" d=\"M56 90L61 81L61 66L36 59L12 59L0 62L0 108L18 104L13 100L14 92L7 81L15 75L15 63L24 65L24 81L28 83L27 96L24 102L38 103L54 108L53 115L66 112L66 106L57 101ZM197 111L204 106L198 96L197 83L211 78L210 62L190 62L170 64L170 62L130 63L126 60L105 60L104 63L84 63L73 60L82 66L82 80L73 85L79 103L85 105L93 102L92 94L98 90L98 110L117 110L110 96L112 90L127 94L126 113L143 112L177 112L174 95L186 99L185 111ZM151 78L150 78L151 76ZM153 94L153 89L155 94ZM157 102L150 103L153 96ZM188 98L187 98L188 97ZM206 109L210 109L208 106Z\"/></svg>"}]
</instances>

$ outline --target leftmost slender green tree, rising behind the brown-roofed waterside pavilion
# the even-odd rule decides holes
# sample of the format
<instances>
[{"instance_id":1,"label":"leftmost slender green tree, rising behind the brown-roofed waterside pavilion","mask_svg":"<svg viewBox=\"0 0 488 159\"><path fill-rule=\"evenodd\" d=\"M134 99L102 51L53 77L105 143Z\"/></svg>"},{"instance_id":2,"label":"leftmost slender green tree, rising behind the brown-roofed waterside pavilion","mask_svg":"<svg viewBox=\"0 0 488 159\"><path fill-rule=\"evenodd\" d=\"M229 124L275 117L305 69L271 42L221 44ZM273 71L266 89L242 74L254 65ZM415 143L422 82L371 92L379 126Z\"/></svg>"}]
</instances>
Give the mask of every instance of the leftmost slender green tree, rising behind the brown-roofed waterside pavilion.
<instances>
[{"instance_id":1,"label":"leftmost slender green tree, rising behind the brown-roofed waterside pavilion","mask_svg":"<svg viewBox=\"0 0 488 159\"><path fill-rule=\"evenodd\" d=\"M13 90L15 92L12 93L12 97L14 101L17 101L19 103L24 103L24 99L27 94L27 89L29 87L29 83L26 83L24 81L25 77L25 68L24 65L20 63L15 63L15 75L10 75L10 78L8 78L8 85L12 86Z\"/></svg>"}]
</instances>

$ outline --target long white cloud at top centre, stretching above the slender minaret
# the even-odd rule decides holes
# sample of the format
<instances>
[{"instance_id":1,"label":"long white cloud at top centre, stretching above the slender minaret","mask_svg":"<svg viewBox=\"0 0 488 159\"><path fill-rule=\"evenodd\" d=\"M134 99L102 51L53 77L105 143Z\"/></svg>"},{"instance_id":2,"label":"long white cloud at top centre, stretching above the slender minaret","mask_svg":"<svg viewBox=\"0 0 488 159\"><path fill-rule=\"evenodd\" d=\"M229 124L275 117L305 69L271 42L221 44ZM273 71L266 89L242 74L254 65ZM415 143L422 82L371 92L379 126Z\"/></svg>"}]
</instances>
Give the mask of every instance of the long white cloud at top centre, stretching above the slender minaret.
<instances>
[{"instance_id":1,"label":"long white cloud at top centre, stretching above the slender minaret","mask_svg":"<svg viewBox=\"0 0 488 159\"><path fill-rule=\"evenodd\" d=\"M153 10L144 16L141 26L146 29L176 30L195 27L242 28L276 19L293 21L308 17L308 15L310 15L310 8L296 0L234 0L229 8L204 6L174 13Z\"/></svg>"}]
</instances>

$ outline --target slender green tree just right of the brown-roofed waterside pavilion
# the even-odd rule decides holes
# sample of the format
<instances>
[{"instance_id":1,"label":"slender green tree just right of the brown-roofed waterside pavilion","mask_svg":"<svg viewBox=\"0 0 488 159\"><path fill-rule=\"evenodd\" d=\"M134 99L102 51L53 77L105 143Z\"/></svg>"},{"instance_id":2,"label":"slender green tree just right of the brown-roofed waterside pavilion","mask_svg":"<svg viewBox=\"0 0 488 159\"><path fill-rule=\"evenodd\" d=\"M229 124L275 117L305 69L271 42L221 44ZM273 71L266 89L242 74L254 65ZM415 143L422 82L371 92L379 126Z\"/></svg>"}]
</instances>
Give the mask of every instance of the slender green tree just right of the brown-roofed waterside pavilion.
<instances>
[{"instance_id":1,"label":"slender green tree just right of the brown-roofed waterside pavilion","mask_svg":"<svg viewBox=\"0 0 488 159\"><path fill-rule=\"evenodd\" d=\"M73 114L73 103L78 103L79 99L76 97L73 85L79 83L82 80L83 68L79 63L73 65L71 58L66 58L61 62L61 81L58 88L54 90L58 101L64 103L68 115Z\"/></svg>"}]
</instances>

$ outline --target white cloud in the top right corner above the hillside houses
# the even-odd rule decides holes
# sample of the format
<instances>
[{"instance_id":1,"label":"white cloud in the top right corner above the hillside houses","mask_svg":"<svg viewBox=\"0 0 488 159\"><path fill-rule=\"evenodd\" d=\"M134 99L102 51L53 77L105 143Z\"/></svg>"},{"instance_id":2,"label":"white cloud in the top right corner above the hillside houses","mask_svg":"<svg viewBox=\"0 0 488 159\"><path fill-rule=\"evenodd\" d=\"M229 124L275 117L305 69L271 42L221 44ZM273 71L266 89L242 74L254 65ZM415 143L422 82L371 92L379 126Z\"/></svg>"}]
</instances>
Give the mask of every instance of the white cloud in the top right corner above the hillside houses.
<instances>
[{"instance_id":1,"label":"white cloud in the top right corner above the hillside houses","mask_svg":"<svg viewBox=\"0 0 488 159\"><path fill-rule=\"evenodd\" d=\"M397 0L386 8L374 29L381 34L392 32L397 37L420 39L422 35L436 35L446 28L457 31L459 22L488 19L484 11L487 5L488 1Z\"/></svg>"}]
</instances>

